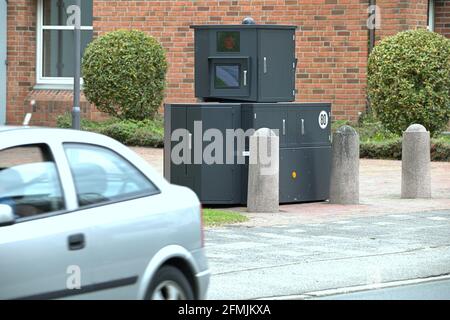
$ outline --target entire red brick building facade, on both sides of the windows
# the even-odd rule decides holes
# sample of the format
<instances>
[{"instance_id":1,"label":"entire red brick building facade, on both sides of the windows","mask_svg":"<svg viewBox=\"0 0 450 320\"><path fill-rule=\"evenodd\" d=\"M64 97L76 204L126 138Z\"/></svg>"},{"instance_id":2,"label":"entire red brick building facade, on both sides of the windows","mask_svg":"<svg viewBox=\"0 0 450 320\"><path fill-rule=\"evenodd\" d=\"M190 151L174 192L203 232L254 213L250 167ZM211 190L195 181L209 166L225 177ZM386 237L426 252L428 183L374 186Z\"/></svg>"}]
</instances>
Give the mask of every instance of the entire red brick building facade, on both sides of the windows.
<instances>
[{"instance_id":1,"label":"entire red brick building facade, on both sides of the windows","mask_svg":"<svg viewBox=\"0 0 450 320\"><path fill-rule=\"evenodd\" d=\"M450 1L437 1L436 27L449 35ZM140 29L166 48L170 64L167 102L193 102L192 24L239 24L252 16L261 24L297 25L297 100L329 101L337 119L356 120L366 108L368 0L100 1L94 0L94 31ZM377 0L379 38L426 27L428 0ZM440 8L440 9L439 9ZM70 91L33 90L36 81L36 0L8 4L8 123L21 122L36 100L33 124L54 125L70 110ZM100 113L84 101L84 117Z\"/></svg>"}]
</instances>

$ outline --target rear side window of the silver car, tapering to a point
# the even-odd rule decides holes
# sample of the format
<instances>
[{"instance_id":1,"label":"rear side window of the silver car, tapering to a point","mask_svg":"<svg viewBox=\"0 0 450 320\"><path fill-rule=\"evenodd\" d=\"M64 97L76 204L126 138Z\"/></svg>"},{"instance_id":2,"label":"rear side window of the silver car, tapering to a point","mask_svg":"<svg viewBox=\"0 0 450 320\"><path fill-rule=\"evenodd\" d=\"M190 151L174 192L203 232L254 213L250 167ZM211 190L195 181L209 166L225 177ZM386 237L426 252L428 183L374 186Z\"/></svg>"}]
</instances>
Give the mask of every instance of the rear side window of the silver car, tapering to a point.
<instances>
[{"instance_id":1,"label":"rear side window of the silver car, tapering to a point","mask_svg":"<svg viewBox=\"0 0 450 320\"><path fill-rule=\"evenodd\" d=\"M155 194L156 186L112 150L85 144L65 144L79 206Z\"/></svg>"}]
</instances>

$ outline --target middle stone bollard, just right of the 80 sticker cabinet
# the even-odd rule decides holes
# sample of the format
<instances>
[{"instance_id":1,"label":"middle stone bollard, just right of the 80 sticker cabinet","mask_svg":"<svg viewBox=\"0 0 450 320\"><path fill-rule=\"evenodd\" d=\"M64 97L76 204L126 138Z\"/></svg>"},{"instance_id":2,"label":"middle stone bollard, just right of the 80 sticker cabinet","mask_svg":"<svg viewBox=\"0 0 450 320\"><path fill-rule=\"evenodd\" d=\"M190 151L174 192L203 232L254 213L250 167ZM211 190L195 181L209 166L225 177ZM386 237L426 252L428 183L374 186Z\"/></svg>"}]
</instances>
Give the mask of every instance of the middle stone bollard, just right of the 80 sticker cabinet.
<instances>
[{"instance_id":1,"label":"middle stone bollard, just right of the 80 sticker cabinet","mask_svg":"<svg viewBox=\"0 0 450 320\"><path fill-rule=\"evenodd\" d=\"M333 134L330 203L359 204L359 135L350 126Z\"/></svg>"}]
</instances>

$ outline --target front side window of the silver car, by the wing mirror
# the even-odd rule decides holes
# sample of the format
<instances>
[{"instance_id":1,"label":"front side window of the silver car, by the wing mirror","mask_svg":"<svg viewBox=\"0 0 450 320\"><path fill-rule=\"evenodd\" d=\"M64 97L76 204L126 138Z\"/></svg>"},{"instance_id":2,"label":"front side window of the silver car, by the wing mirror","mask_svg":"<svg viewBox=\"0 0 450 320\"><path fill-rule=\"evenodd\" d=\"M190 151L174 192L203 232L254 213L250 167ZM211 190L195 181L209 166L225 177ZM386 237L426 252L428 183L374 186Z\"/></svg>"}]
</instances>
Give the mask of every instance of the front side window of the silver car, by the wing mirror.
<instances>
[{"instance_id":1,"label":"front side window of the silver car, by the wing mirror","mask_svg":"<svg viewBox=\"0 0 450 320\"><path fill-rule=\"evenodd\" d=\"M0 204L17 219L65 209L58 170L47 145L0 150Z\"/></svg>"}]
</instances>

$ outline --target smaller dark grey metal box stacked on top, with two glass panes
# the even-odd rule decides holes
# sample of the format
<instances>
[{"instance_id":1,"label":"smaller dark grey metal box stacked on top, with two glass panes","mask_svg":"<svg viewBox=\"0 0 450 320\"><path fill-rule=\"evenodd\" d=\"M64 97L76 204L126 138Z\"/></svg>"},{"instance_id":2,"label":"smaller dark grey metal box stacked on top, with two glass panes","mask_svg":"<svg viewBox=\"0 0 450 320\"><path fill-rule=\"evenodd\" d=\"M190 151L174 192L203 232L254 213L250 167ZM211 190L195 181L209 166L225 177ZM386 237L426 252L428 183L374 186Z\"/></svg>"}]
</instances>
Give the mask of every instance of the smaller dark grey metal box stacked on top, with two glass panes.
<instances>
[{"instance_id":1,"label":"smaller dark grey metal box stacked on top, with two glass panes","mask_svg":"<svg viewBox=\"0 0 450 320\"><path fill-rule=\"evenodd\" d=\"M295 26L200 25L195 96L203 101L295 100Z\"/></svg>"}]
</instances>

